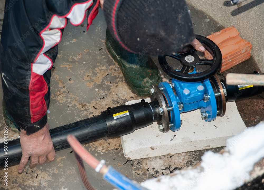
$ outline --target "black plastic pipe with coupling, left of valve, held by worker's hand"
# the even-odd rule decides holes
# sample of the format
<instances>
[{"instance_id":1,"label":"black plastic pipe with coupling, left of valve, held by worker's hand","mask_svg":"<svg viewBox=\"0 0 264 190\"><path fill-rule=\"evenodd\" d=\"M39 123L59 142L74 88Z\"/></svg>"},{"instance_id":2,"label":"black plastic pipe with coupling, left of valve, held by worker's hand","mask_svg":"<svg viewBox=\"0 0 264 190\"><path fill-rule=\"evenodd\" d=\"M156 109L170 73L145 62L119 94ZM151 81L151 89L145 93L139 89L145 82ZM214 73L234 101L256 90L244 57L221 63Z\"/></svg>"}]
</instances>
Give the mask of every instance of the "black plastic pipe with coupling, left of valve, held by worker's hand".
<instances>
[{"instance_id":1,"label":"black plastic pipe with coupling, left of valve, held by worker's hand","mask_svg":"<svg viewBox=\"0 0 264 190\"><path fill-rule=\"evenodd\" d=\"M54 149L59 151L69 148L66 137L70 134L81 143L129 134L161 120L158 108L157 100L148 103L143 99L141 103L109 107L101 115L50 129ZM4 154L4 146L8 147L7 154ZM0 168L5 166L4 158L8 158L8 165L11 165L19 163L21 157L20 139L7 141L7 144L0 143Z\"/></svg>"}]
</instances>

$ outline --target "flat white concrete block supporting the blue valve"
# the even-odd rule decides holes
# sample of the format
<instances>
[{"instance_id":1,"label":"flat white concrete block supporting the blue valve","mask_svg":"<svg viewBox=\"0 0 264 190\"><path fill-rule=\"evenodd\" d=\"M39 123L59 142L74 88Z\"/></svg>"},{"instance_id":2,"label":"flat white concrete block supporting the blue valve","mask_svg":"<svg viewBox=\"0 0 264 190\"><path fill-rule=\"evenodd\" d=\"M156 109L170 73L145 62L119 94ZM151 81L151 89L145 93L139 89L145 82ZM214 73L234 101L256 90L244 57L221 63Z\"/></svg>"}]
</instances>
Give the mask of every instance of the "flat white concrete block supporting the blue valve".
<instances>
[{"instance_id":1,"label":"flat white concrete block supporting the blue valve","mask_svg":"<svg viewBox=\"0 0 264 190\"><path fill-rule=\"evenodd\" d=\"M132 100L126 105L140 101ZM150 98L145 101L150 102ZM203 121L199 110L181 113L181 120L183 124L176 132L159 132L157 122L154 122L122 136L124 156L128 159L139 159L216 148L225 146L229 137L246 129L235 102L226 103L225 115L217 117L215 121Z\"/></svg>"}]
</instances>

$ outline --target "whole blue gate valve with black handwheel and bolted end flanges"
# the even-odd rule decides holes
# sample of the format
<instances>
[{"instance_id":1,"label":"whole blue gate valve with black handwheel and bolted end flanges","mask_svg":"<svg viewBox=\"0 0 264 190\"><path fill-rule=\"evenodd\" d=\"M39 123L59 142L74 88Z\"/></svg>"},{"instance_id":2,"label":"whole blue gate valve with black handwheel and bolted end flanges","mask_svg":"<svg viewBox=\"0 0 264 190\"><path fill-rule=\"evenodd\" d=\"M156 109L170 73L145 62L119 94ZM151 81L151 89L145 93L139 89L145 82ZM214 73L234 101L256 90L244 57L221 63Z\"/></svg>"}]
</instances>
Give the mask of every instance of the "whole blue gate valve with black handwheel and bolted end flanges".
<instances>
[{"instance_id":1,"label":"whole blue gate valve with black handwheel and bolted end flanges","mask_svg":"<svg viewBox=\"0 0 264 190\"><path fill-rule=\"evenodd\" d=\"M224 84L216 75L222 61L221 51L210 39L199 35L195 37L212 54L213 59L201 59L192 46L183 54L158 57L164 72L172 77L171 83L161 82L159 86L150 88L151 101L157 99L160 105L162 120L157 123L163 133L180 129L182 112L199 109L201 119L205 121L214 121L216 116L225 114L227 93ZM181 70L173 69L166 61L167 56L180 61ZM204 65L207 69L197 71L197 68L200 69Z\"/></svg>"}]
</instances>

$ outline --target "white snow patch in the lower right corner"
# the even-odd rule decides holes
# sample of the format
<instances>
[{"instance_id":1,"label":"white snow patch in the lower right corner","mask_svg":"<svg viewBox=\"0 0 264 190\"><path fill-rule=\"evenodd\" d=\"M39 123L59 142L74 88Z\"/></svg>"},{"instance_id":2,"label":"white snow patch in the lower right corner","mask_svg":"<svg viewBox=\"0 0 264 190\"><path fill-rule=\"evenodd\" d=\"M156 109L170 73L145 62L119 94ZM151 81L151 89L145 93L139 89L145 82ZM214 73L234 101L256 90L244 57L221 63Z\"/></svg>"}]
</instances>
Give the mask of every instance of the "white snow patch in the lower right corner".
<instances>
[{"instance_id":1,"label":"white snow patch in the lower right corner","mask_svg":"<svg viewBox=\"0 0 264 190\"><path fill-rule=\"evenodd\" d=\"M207 151L197 168L176 171L142 182L148 189L232 190L250 178L249 172L264 157L264 123L249 127L227 140L223 154Z\"/></svg>"}]
</instances>

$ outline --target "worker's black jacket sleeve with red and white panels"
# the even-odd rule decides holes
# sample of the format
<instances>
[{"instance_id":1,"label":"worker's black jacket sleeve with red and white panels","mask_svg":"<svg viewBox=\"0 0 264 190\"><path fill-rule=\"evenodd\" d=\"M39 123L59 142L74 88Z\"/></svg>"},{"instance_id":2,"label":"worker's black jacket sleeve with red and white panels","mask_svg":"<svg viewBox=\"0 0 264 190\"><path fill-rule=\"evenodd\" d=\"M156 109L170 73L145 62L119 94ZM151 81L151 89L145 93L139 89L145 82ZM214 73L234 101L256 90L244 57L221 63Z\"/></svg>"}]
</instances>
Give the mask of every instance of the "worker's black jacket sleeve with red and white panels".
<instances>
[{"instance_id":1,"label":"worker's black jacket sleeve with red and white panels","mask_svg":"<svg viewBox=\"0 0 264 190\"><path fill-rule=\"evenodd\" d=\"M73 25L87 19L88 29L98 4L99 0L6 0L0 47L3 98L27 135L47 122L50 68L67 19Z\"/></svg>"}]
</instances>

